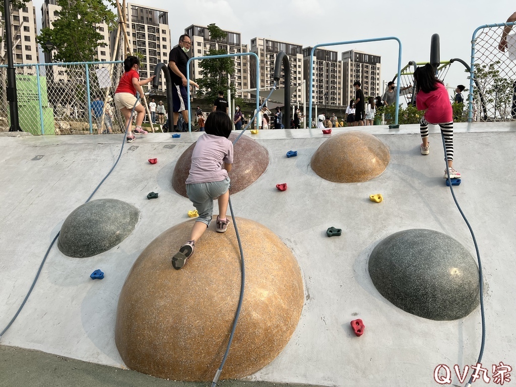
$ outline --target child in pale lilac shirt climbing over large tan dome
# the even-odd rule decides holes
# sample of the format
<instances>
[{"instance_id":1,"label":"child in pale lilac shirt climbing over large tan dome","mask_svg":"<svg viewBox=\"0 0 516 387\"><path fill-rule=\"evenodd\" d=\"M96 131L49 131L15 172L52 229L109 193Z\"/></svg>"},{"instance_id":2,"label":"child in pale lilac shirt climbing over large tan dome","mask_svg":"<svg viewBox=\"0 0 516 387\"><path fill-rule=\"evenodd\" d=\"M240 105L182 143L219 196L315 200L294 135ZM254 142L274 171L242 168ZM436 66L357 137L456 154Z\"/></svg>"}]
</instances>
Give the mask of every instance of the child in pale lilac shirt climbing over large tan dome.
<instances>
[{"instance_id":1,"label":"child in pale lilac shirt climbing over large tan dome","mask_svg":"<svg viewBox=\"0 0 516 387\"><path fill-rule=\"evenodd\" d=\"M233 164L233 143L228 139L231 126L231 119L225 112L214 111L206 119L206 133L199 137L193 148L190 172L186 179L186 194L197 208L199 217L193 223L190 240L172 257L172 266L176 270L186 264L195 250L196 241L209 227L213 215L213 198L218 198L219 205L216 231L223 233L228 229L228 172Z\"/></svg>"}]
</instances>

